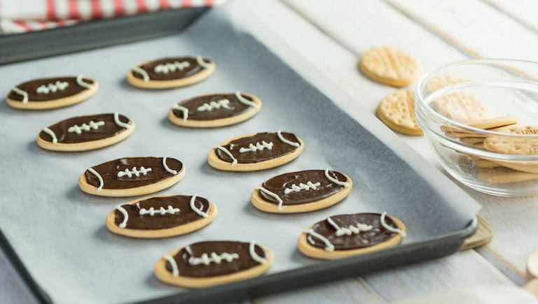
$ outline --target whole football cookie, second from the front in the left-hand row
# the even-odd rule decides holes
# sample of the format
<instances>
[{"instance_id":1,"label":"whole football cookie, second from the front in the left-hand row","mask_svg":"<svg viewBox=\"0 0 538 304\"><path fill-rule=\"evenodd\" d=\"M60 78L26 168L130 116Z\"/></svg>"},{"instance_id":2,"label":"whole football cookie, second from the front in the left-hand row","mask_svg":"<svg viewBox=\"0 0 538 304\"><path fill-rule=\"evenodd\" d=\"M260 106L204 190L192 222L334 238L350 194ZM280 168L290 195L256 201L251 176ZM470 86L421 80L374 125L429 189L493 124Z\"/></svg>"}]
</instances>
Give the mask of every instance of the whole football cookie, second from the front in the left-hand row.
<instances>
[{"instance_id":1,"label":"whole football cookie, second from the front in the left-hand row","mask_svg":"<svg viewBox=\"0 0 538 304\"><path fill-rule=\"evenodd\" d=\"M213 222L214 203L201 196L153 196L121 204L106 217L106 228L132 238L167 238Z\"/></svg>"}]
</instances>

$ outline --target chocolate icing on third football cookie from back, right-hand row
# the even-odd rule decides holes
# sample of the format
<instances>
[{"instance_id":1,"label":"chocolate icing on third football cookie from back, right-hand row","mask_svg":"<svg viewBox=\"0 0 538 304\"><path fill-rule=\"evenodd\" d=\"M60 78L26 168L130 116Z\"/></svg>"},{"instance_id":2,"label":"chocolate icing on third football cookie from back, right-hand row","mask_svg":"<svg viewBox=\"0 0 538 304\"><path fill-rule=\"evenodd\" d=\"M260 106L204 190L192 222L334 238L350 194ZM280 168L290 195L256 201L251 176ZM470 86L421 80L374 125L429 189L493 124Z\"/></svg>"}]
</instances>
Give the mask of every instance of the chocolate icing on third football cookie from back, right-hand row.
<instances>
[{"instance_id":1,"label":"chocolate icing on third football cookie from back, right-hand row","mask_svg":"<svg viewBox=\"0 0 538 304\"><path fill-rule=\"evenodd\" d=\"M287 140L290 140L294 143L299 143L298 138L294 133L284 133L282 136ZM261 143L265 141L266 143L273 143L273 149L263 149L256 152L239 152L242 147L249 147L250 144L256 145L256 143ZM233 145L233 146L232 146ZM253 136L245 136L228 142L226 145L223 145L230 153L237 159L238 164L254 164L260 161L267 161L269 159L276 159L277 157L282 157L286 154L294 152L298 147L284 143L280 138L278 138L277 133L257 133ZM233 160L225 152L215 149L215 154L219 159L231 163Z\"/></svg>"}]
</instances>

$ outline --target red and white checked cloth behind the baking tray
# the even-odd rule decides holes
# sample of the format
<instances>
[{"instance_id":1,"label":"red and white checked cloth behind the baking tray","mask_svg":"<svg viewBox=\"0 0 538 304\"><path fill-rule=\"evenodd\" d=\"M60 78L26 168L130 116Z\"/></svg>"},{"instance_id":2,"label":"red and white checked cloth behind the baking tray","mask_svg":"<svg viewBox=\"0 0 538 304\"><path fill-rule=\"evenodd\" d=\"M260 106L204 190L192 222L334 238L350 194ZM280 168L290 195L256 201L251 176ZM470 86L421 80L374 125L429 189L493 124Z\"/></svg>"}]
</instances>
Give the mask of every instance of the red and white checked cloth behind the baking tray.
<instances>
[{"instance_id":1,"label":"red and white checked cloth behind the baking tray","mask_svg":"<svg viewBox=\"0 0 538 304\"><path fill-rule=\"evenodd\" d=\"M77 22L170 8L214 6L225 0L0 0L0 33L16 34Z\"/></svg>"}]
</instances>

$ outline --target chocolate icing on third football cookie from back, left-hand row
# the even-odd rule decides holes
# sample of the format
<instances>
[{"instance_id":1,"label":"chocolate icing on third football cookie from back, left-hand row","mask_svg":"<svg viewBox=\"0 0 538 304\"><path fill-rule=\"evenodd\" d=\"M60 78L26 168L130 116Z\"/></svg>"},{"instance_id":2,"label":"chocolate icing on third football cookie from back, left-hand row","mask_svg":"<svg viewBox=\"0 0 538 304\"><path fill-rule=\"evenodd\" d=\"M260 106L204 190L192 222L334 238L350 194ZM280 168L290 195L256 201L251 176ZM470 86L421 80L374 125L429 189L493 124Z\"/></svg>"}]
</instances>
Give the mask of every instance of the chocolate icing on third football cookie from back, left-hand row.
<instances>
[{"instance_id":1,"label":"chocolate icing on third football cookie from back, left-hand row","mask_svg":"<svg viewBox=\"0 0 538 304\"><path fill-rule=\"evenodd\" d=\"M168 168L175 170L178 173L183 168L181 161L172 157L166 159L166 164ZM132 170L132 167L137 167L137 169L139 169L141 166L144 166L146 169L151 168L151 172L148 172L147 175L140 174L139 177L132 176L131 178L126 175L120 178L117 176L119 171L125 171L125 169ZM103 178L103 189L131 189L142 187L148 184L155 184L156 182L174 176L172 173L166 171L163 166L163 157L125 157L123 159L106 161L106 163L92 166L92 168ZM99 187L99 179L93 173L86 170L84 176L88 184Z\"/></svg>"}]
</instances>

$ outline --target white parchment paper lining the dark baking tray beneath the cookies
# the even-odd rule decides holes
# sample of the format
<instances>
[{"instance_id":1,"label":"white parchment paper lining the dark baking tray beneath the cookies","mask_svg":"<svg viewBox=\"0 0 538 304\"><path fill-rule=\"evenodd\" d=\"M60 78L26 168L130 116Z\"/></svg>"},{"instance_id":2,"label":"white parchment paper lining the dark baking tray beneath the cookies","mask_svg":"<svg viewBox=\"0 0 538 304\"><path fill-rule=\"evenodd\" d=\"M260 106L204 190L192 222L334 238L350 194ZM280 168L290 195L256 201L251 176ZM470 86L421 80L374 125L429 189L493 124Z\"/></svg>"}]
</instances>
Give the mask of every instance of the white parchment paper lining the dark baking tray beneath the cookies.
<instances>
[{"instance_id":1,"label":"white parchment paper lining the dark baking tray beneath the cookies","mask_svg":"<svg viewBox=\"0 0 538 304\"><path fill-rule=\"evenodd\" d=\"M30 275L55 303L155 298L160 300L153 303L167 303L258 296L450 254L472 232L474 226L469 228L469 223L479 208L472 198L371 113L365 110L350 117L336 103L354 101L324 85L331 100L259 43L249 27L231 23L231 15L225 6L205 14L179 35L0 66L4 75L1 94L18 82L53 75L83 73L101 85L97 96L69 108L36 112L13 110L6 103L0 106L4 176L0 180L0 228ZM135 64L183 54L214 59L215 74L198 85L167 91L144 91L126 84L125 73ZM324 82L315 71L309 75L315 82ZM263 100L261 112L247 122L203 130L182 129L167 120L173 102L237 89ZM41 150L35 143L43 126L76 115L114 111L132 117L137 124L135 133L118 145L92 152L57 153ZM291 164L255 173L226 173L207 164L207 152L221 140L279 129L293 131L305 141L305 151ZM104 226L106 215L132 198L83 194L78 176L89 166L134 156L170 156L184 161L186 178L160 194L210 198L219 208L214 223L187 236L162 240L109 233ZM350 175L354 181L350 197L326 210L301 215L266 214L251 206L251 191L263 180L310 168L333 168ZM408 237L399 247L330 262L309 259L296 249L301 231L325 217L382 211L408 227ZM170 249L215 239L256 240L275 253L273 268L264 277L207 291L170 287L153 276L154 263Z\"/></svg>"}]
</instances>

